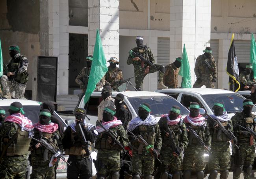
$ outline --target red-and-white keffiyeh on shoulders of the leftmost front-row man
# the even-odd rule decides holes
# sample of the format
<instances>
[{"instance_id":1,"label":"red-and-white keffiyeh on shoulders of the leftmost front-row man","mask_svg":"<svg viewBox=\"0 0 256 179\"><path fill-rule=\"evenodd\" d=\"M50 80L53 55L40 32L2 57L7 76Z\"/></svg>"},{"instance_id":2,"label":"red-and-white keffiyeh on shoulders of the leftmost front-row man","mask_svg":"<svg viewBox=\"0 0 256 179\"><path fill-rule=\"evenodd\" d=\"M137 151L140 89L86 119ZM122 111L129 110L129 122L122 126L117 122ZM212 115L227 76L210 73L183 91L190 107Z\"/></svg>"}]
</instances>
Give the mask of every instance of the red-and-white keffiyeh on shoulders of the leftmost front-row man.
<instances>
[{"instance_id":1,"label":"red-and-white keffiyeh on shoulders of the leftmost front-row man","mask_svg":"<svg viewBox=\"0 0 256 179\"><path fill-rule=\"evenodd\" d=\"M31 120L29 120L21 113L15 113L10 116L7 116L7 118L4 121L15 122L16 124L19 124L21 127L21 131L31 131L34 128Z\"/></svg>"}]
</instances>

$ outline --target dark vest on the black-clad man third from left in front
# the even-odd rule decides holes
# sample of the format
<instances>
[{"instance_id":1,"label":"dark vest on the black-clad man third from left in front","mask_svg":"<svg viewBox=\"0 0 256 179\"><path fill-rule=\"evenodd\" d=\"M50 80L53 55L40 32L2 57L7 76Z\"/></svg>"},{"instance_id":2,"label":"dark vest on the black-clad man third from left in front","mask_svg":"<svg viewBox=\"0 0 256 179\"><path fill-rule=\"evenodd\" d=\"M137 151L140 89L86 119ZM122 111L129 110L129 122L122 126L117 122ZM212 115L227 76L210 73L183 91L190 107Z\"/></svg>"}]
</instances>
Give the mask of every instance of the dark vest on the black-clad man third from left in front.
<instances>
[{"instance_id":1,"label":"dark vest on the black-clad man third from left in front","mask_svg":"<svg viewBox=\"0 0 256 179\"><path fill-rule=\"evenodd\" d=\"M73 144L70 149L65 150L65 155L76 155L76 156L81 156L85 155L85 149L82 148L82 143L80 141L80 138L76 136L77 133L71 129L71 142ZM75 137L78 138L75 140Z\"/></svg>"}]
</instances>

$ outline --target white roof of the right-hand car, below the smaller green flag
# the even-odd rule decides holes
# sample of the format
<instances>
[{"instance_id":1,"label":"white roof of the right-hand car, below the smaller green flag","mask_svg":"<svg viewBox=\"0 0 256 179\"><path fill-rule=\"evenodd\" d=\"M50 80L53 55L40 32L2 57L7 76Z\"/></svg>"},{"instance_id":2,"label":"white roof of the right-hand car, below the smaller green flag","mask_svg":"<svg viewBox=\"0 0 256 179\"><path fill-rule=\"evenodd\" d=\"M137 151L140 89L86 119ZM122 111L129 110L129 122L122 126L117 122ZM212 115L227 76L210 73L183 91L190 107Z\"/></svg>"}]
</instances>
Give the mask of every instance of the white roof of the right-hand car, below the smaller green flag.
<instances>
[{"instance_id":1,"label":"white roof of the right-hand car, below the smaller green flag","mask_svg":"<svg viewBox=\"0 0 256 179\"><path fill-rule=\"evenodd\" d=\"M230 94L235 93L233 91L224 90L224 89L212 89L212 88L178 88L178 89L163 89L156 90L156 92L190 92L197 93L199 95L204 94Z\"/></svg>"}]
</instances>

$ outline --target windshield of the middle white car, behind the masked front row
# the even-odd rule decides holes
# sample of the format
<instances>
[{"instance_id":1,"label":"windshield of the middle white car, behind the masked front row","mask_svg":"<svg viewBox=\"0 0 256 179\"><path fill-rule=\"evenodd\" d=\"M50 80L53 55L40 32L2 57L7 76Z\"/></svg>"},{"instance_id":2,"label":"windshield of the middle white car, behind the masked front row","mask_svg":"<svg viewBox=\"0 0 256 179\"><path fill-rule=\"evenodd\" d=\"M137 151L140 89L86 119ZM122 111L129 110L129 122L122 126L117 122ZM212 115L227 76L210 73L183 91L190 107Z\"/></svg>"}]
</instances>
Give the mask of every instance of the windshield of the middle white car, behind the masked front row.
<instances>
[{"instance_id":1,"label":"windshield of the middle white car, behind the masked front row","mask_svg":"<svg viewBox=\"0 0 256 179\"><path fill-rule=\"evenodd\" d=\"M128 98L135 112L138 114L139 105L148 103L151 108L151 115L160 116L168 114L173 105L180 107L180 113L183 115L189 114L189 111L178 101L170 96L138 96Z\"/></svg>"}]
</instances>

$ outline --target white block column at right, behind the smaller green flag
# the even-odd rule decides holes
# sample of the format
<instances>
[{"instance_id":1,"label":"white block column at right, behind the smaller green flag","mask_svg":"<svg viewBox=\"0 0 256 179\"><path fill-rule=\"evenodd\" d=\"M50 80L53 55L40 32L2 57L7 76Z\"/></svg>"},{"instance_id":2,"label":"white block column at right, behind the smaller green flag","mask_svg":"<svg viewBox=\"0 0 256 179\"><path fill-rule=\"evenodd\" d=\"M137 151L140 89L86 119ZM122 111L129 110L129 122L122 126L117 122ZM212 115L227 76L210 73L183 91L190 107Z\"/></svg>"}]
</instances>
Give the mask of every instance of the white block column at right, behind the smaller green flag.
<instances>
[{"instance_id":1,"label":"white block column at right, behind the smaller green flag","mask_svg":"<svg viewBox=\"0 0 256 179\"><path fill-rule=\"evenodd\" d=\"M211 39L211 0L171 0L170 61L182 55L186 45L195 82L195 59L202 54Z\"/></svg>"}]
</instances>

